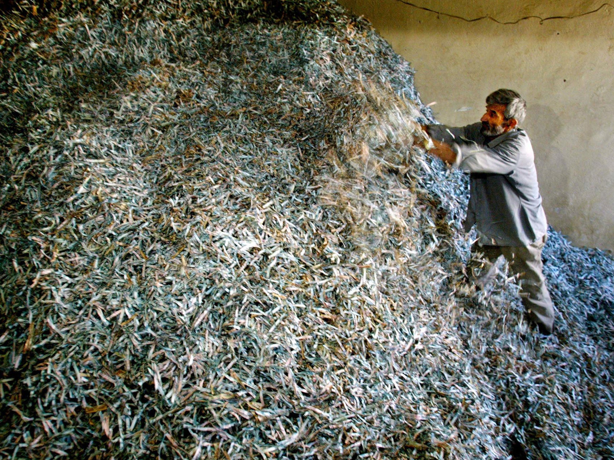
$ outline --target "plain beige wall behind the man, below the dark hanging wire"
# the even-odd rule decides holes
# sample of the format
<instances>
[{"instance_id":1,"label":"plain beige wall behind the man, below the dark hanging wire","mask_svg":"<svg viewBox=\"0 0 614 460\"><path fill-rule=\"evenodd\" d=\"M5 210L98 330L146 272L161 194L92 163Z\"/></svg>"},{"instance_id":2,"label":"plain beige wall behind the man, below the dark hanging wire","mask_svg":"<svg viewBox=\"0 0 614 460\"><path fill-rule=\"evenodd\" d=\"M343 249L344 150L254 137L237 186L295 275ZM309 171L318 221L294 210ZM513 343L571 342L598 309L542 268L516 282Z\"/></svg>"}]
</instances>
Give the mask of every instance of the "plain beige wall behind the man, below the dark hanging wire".
<instances>
[{"instance_id":1,"label":"plain beige wall behind the man, below the dark hanging wire","mask_svg":"<svg viewBox=\"0 0 614 460\"><path fill-rule=\"evenodd\" d=\"M548 221L575 245L614 250L614 8L516 25L467 22L398 0L339 0L373 23L416 69L422 102L441 123L478 121L497 88L527 100ZM597 1L414 0L465 18L577 15Z\"/></svg>"}]
</instances>

